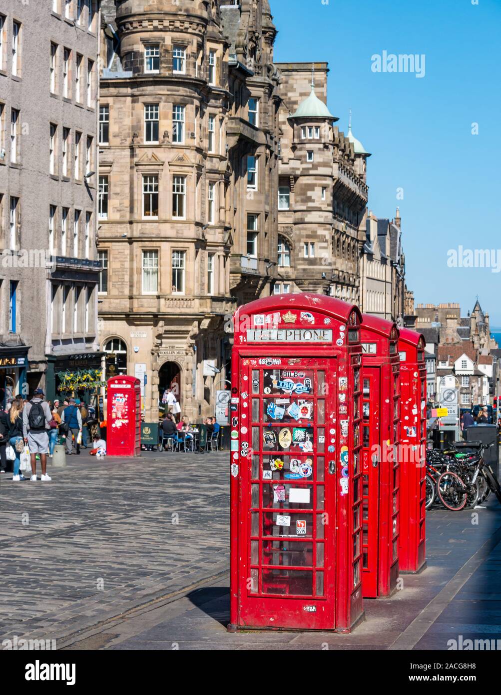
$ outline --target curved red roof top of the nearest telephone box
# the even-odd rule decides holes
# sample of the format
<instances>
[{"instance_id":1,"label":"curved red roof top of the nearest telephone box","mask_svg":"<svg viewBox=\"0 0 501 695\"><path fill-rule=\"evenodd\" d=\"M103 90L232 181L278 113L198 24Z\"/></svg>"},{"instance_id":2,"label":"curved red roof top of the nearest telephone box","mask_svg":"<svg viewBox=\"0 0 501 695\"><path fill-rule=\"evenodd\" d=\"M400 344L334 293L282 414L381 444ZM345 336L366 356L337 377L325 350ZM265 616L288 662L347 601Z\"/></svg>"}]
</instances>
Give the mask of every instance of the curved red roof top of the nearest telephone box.
<instances>
[{"instance_id":1,"label":"curved red roof top of the nearest telephone box","mask_svg":"<svg viewBox=\"0 0 501 695\"><path fill-rule=\"evenodd\" d=\"M282 294L271 295L270 297L262 297L259 300L254 300L248 304L242 304L237 309L233 320L240 313L266 313L267 311L277 311L281 309L314 309L334 316L339 321L347 322L350 314L355 311L362 322L362 313L356 304L342 302L335 297L327 297L325 295L316 295L309 292L300 292L298 294Z\"/></svg>"}]
</instances>

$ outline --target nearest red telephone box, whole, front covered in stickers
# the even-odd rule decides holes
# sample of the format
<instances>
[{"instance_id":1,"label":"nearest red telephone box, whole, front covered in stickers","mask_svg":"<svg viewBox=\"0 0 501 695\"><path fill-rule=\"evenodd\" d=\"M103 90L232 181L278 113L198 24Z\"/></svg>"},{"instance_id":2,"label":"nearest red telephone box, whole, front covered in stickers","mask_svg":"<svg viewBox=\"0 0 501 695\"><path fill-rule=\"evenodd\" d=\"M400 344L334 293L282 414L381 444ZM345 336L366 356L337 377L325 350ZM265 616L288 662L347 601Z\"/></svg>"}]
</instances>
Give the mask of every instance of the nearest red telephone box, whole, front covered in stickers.
<instances>
[{"instance_id":1,"label":"nearest red telephone box, whole, front covered in stickers","mask_svg":"<svg viewBox=\"0 0 501 695\"><path fill-rule=\"evenodd\" d=\"M235 314L228 630L348 631L363 614L360 319L309 293Z\"/></svg>"}]
</instances>

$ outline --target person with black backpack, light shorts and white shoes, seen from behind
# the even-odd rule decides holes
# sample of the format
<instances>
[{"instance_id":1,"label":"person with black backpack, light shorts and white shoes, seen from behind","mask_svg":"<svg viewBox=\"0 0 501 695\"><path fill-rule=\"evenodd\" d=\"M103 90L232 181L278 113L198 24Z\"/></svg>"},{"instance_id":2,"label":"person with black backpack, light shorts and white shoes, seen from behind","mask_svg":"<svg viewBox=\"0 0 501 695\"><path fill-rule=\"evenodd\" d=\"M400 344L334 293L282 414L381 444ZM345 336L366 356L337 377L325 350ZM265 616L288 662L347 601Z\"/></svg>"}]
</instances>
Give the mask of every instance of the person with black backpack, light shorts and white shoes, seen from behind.
<instances>
[{"instance_id":1,"label":"person with black backpack, light shorts and white shoes, seen from behind","mask_svg":"<svg viewBox=\"0 0 501 695\"><path fill-rule=\"evenodd\" d=\"M23 435L28 444L31 460L31 478L37 480L37 454L40 455L42 476L40 480L48 481L52 478L47 475L47 454L49 453L49 434L51 429L52 413L49 403L44 400L44 391L35 389L33 398L23 408Z\"/></svg>"}]
</instances>

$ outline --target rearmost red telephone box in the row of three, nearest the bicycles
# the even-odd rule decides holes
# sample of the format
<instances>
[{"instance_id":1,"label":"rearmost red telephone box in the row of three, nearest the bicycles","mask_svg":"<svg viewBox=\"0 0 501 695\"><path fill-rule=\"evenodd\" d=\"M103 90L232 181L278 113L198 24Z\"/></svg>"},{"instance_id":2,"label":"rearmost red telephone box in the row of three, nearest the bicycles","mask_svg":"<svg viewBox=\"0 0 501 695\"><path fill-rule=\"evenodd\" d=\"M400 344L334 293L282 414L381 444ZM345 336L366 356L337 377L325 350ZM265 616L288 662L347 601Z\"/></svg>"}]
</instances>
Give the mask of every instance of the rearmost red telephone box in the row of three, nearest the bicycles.
<instances>
[{"instance_id":1,"label":"rearmost red telephone box in the row of three, nearest the bicycles","mask_svg":"<svg viewBox=\"0 0 501 695\"><path fill-rule=\"evenodd\" d=\"M425 338L400 329L400 409L402 430L400 480L400 571L425 566L426 366Z\"/></svg>"}]
</instances>

